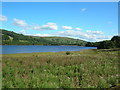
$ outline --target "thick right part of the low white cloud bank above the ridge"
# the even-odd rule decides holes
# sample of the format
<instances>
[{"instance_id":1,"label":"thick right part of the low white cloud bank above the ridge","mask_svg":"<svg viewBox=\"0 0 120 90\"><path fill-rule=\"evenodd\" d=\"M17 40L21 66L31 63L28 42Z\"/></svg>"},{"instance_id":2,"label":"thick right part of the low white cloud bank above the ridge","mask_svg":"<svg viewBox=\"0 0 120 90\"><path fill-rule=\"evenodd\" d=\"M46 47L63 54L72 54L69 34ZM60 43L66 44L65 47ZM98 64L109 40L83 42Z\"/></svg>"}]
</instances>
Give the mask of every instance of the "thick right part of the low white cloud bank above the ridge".
<instances>
[{"instance_id":1,"label":"thick right part of the low white cloud bank above the ridge","mask_svg":"<svg viewBox=\"0 0 120 90\"><path fill-rule=\"evenodd\" d=\"M63 37L72 37L72 38L78 38L85 41L102 41L102 40L109 40L111 39L111 36L105 36L105 35L97 35L97 34L90 34L88 32L81 32L76 30L66 30L66 31L60 31L55 33L54 35L57 36L63 36Z\"/></svg>"}]
</instances>

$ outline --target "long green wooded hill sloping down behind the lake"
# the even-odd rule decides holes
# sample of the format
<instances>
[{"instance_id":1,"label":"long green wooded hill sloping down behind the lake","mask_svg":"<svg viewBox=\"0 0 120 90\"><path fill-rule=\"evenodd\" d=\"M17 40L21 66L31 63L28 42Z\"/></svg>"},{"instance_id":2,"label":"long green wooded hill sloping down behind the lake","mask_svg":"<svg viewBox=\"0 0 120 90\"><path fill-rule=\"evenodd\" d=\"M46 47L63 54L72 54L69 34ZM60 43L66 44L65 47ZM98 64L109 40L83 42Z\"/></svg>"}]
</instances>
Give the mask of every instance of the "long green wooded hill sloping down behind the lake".
<instances>
[{"instance_id":1,"label":"long green wooded hill sloping down behind the lake","mask_svg":"<svg viewBox=\"0 0 120 90\"><path fill-rule=\"evenodd\" d=\"M79 45L85 46L86 41L68 37L25 36L12 31L0 29L2 45Z\"/></svg>"}]
</instances>

